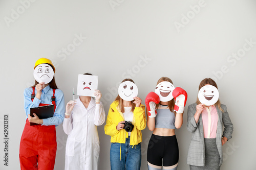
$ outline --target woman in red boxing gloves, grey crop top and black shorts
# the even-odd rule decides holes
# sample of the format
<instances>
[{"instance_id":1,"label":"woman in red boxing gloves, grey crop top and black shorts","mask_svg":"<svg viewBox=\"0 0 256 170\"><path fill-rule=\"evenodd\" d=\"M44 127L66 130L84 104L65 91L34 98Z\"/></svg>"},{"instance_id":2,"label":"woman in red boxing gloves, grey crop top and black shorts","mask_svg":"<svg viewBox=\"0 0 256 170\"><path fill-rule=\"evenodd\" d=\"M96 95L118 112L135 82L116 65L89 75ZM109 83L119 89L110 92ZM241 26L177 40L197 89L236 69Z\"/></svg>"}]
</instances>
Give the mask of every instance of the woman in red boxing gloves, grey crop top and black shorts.
<instances>
[{"instance_id":1,"label":"woman in red boxing gloves, grey crop top and black shorts","mask_svg":"<svg viewBox=\"0 0 256 170\"><path fill-rule=\"evenodd\" d=\"M183 111L187 93L174 87L172 80L162 77L155 92L147 94L147 127L153 134L148 142L148 170L174 169L178 167L179 148L175 129L183 123Z\"/></svg>"}]
</instances>

